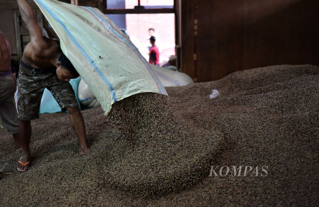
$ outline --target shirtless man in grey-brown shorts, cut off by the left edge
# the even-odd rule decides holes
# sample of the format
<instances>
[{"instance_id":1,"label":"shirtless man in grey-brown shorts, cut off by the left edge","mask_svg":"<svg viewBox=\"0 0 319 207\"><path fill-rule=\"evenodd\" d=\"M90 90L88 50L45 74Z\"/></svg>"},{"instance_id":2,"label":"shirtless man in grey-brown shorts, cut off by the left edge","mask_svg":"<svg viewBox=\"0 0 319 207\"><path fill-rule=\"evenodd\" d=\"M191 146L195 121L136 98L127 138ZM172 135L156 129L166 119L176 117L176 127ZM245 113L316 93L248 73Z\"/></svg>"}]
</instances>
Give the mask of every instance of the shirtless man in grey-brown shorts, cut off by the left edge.
<instances>
[{"instance_id":1,"label":"shirtless man in grey-brown shorts, cut off by the left edge","mask_svg":"<svg viewBox=\"0 0 319 207\"><path fill-rule=\"evenodd\" d=\"M18 114L14 100L17 79L11 73L10 63L10 44L0 31L0 127L4 127L9 135L13 135L17 147L20 148Z\"/></svg>"}]
</instances>

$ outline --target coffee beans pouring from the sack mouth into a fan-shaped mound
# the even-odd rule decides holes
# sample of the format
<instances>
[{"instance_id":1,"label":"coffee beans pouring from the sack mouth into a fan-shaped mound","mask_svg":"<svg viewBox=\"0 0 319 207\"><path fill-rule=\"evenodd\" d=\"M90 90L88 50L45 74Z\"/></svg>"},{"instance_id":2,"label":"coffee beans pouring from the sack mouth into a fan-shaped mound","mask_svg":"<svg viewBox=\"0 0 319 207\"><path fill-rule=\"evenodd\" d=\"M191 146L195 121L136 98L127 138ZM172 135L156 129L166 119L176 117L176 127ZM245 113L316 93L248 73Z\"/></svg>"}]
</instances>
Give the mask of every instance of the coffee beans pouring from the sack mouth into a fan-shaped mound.
<instances>
[{"instance_id":1,"label":"coffee beans pouring from the sack mouth into a fan-shaped mound","mask_svg":"<svg viewBox=\"0 0 319 207\"><path fill-rule=\"evenodd\" d=\"M109 165L101 179L133 195L179 191L197 183L222 137L183 121L161 94L140 93L116 102L109 118L119 141L125 142L122 149L108 151Z\"/></svg>"}]
</instances>

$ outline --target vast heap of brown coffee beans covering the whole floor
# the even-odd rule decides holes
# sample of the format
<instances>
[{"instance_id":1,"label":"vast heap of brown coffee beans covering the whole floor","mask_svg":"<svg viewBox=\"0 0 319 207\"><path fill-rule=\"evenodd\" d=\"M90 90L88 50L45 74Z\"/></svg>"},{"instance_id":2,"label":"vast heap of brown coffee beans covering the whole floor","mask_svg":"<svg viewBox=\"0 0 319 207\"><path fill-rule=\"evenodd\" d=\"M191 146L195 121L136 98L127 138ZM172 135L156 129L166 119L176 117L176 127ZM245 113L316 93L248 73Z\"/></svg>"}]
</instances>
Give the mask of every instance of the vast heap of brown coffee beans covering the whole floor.
<instances>
[{"instance_id":1,"label":"vast heap of brown coffee beans covering the whole floor","mask_svg":"<svg viewBox=\"0 0 319 207\"><path fill-rule=\"evenodd\" d=\"M318 66L268 66L169 87L169 98L137 94L108 116L84 110L88 156L67 114L41 114L26 173L0 129L0 168L11 173L0 179L0 206L316 206L318 83ZM209 176L208 164L268 174Z\"/></svg>"}]
</instances>

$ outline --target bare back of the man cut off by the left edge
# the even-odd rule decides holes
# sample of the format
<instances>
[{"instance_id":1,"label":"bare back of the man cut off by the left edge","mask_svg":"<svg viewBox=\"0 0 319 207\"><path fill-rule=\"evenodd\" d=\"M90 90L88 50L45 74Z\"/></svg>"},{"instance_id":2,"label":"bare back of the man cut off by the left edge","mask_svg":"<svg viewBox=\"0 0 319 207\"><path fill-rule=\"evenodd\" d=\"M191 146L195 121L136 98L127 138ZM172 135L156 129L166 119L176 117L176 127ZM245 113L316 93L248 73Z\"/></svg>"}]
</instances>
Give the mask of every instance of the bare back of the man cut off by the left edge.
<instances>
[{"instance_id":1,"label":"bare back of the man cut off by the left edge","mask_svg":"<svg viewBox=\"0 0 319 207\"><path fill-rule=\"evenodd\" d=\"M0 72L10 70L11 64L11 49L7 38L0 31Z\"/></svg>"}]
</instances>

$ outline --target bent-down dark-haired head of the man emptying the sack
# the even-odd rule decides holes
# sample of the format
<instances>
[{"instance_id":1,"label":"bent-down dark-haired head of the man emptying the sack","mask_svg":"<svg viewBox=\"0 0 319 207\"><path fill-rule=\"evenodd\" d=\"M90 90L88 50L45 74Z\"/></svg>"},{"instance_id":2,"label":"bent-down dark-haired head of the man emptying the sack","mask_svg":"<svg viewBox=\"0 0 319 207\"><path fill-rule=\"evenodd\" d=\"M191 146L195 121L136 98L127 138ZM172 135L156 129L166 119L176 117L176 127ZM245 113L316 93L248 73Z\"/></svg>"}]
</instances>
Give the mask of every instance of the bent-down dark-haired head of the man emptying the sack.
<instances>
[{"instance_id":1,"label":"bent-down dark-haired head of the man emptying the sack","mask_svg":"<svg viewBox=\"0 0 319 207\"><path fill-rule=\"evenodd\" d=\"M61 81L66 82L79 76L78 71L63 53L59 55L58 62L56 63L56 75Z\"/></svg>"}]
</instances>

